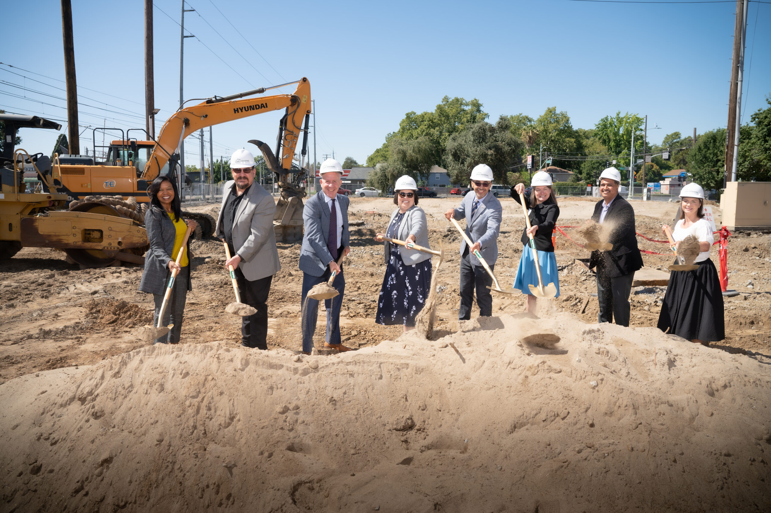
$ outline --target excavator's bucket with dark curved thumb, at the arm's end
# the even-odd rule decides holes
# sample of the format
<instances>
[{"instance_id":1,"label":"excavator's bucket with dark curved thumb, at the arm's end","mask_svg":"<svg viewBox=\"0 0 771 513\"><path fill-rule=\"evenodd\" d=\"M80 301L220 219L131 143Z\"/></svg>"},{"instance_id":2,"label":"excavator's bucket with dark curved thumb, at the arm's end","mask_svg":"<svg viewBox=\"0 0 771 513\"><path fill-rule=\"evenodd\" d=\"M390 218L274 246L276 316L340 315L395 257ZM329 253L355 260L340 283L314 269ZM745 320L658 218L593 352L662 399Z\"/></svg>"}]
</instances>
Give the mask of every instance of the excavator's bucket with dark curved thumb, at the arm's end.
<instances>
[{"instance_id":1,"label":"excavator's bucket with dark curved thumb, at the arm's end","mask_svg":"<svg viewBox=\"0 0 771 513\"><path fill-rule=\"evenodd\" d=\"M287 183L287 175L291 171L281 168L268 144L261 140L249 141L258 147L265 159L268 170L271 170L278 178L281 186L281 196L276 203L276 214L273 218L273 230L277 242L292 242L302 240L302 198L305 197L305 189L295 187ZM299 170L298 170L299 171Z\"/></svg>"}]
</instances>

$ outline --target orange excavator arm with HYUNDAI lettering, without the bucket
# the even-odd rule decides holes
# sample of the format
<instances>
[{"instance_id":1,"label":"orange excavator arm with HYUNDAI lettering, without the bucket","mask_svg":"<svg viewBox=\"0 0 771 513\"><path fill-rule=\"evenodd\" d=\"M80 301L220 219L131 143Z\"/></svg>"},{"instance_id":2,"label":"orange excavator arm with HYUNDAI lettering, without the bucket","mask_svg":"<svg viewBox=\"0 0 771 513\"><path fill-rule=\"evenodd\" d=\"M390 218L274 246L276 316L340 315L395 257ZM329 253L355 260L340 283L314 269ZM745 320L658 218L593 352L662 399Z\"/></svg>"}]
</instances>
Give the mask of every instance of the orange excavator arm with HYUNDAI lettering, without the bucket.
<instances>
[{"instance_id":1,"label":"orange excavator arm with HYUNDAI lettering, without the bucket","mask_svg":"<svg viewBox=\"0 0 771 513\"><path fill-rule=\"evenodd\" d=\"M286 176L291 169L292 159L295 157L300 133L303 131L303 118L311 113L311 83L303 77L295 82L297 89L292 94L277 94L274 96L262 96L258 98L243 98L254 94L264 93L268 89L261 88L247 93L236 94L220 98L215 96L203 103L177 110L163 124L158 136L157 144L147 161L142 176L146 181L152 181L160 174L160 170L177 152L180 143L185 137L201 128L210 127L227 121L240 120L241 118L285 109L286 113L281 118L279 138L274 157L270 147L266 144L260 146L268 167L279 175L279 182L286 182ZM291 83L289 83L291 84ZM282 84L284 86L289 84ZM266 151L267 150L267 151ZM276 169L275 167L280 167Z\"/></svg>"}]
</instances>

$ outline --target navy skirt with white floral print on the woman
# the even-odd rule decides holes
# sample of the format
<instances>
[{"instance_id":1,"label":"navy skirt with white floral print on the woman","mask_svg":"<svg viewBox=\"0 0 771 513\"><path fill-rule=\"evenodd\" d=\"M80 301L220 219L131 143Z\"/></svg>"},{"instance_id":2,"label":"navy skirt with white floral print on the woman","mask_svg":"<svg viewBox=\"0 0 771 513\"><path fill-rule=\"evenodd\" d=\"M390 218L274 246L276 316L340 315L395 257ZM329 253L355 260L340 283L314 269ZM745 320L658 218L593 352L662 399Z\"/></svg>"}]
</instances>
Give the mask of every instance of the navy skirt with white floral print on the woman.
<instances>
[{"instance_id":1,"label":"navy skirt with white floral print on the woman","mask_svg":"<svg viewBox=\"0 0 771 513\"><path fill-rule=\"evenodd\" d=\"M405 265L399 250L392 249L380 289L375 322L385 326L415 326L415 317L423 309L430 286L430 258L415 265Z\"/></svg>"}]
</instances>

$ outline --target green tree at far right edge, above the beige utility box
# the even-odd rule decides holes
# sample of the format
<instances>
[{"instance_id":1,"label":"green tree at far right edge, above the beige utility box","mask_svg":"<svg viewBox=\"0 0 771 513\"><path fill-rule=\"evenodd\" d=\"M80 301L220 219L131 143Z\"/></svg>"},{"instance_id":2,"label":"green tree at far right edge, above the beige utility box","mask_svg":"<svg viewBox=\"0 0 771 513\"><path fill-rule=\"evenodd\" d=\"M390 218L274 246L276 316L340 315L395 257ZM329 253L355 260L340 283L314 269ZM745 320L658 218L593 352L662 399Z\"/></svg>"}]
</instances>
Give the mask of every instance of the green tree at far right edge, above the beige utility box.
<instances>
[{"instance_id":1,"label":"green tree at far right edge, above the beige utility box","mask_svg":"<svg viewBox=\"0 0 771 513\"><path fill-rule=\"evenodd\" d=\"M769 107L752 113L753 125L739 130L739 157L736 175L744 181L771 181L771 95Z\"/></svg>"}]
</instances>

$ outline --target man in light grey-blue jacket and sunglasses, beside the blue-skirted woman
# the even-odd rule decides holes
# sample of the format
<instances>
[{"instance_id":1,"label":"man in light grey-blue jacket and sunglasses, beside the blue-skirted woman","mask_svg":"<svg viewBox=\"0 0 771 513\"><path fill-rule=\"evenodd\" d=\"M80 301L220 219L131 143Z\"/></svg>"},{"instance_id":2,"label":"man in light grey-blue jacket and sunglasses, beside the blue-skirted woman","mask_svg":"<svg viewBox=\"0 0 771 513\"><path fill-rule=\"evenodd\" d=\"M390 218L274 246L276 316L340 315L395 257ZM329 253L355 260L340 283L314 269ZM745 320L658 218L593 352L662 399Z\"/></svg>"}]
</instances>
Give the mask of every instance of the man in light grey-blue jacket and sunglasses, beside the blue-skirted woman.
<instances>
[{"instance_id":1,"label":"man in light grey-blue jacket and sunglasses, beside the blue-skirted woman","mask_svg":"<svg viewBox=\"0 0 771 513\"><path fill-rule=\"evenodd\" d=\"M480 251L490 270L495 268L498 259L498 233L503 208L498 198L490 193L493 184L493 170L485 164L479 164L471 171L471 188L460 203L460 208L450 208L444 216L450 218L466 218L466 235L474 241L470 248L466 241L460 242L460 310L458 319L471 319L474 289L476 289L476 304L480 307L480 316L493 315L493 296L490 295L490 285L493 278L487 274L479 258L474 255Z\"/></svg>"}]
</instances>

